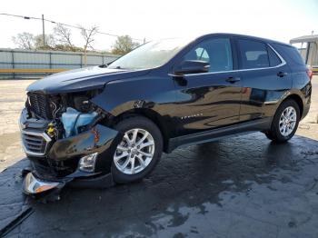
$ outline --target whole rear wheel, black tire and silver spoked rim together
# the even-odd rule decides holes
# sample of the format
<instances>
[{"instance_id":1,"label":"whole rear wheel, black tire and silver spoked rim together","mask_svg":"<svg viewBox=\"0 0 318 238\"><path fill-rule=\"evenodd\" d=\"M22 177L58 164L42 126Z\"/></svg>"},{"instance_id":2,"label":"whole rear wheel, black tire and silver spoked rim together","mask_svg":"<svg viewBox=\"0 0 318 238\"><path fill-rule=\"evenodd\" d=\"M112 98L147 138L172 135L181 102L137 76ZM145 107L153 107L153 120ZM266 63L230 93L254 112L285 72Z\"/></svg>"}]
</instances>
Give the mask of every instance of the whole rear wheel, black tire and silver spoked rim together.
<instances>
[{"instance_id":1,"label":"whole rear wheel, black tire and silver spoked rim together","mask_svg":"<svg viewBox=\"0 0 318 238\"><path fill-rule=\"evenodd\" d=\"M292 116L291 117L292 119L289 120L290 126L287 125L285 126L285 129L283 129L283 125L285 124L284 122L282 122L283 113L287 114L287 112L292 112L293 110L294 110L295 116ZM294 124L293 124L293 120L295 120ZM299 105L292 99L283 101L283 103L280 104L280 106L276 110L276 113L273 116L271 129L265 132L265 135L267 136L268 139L276 143L287 142L293 137L293 134L295 134L298 128L299 121L300 121Z\"/></svg>"}]
</instances>

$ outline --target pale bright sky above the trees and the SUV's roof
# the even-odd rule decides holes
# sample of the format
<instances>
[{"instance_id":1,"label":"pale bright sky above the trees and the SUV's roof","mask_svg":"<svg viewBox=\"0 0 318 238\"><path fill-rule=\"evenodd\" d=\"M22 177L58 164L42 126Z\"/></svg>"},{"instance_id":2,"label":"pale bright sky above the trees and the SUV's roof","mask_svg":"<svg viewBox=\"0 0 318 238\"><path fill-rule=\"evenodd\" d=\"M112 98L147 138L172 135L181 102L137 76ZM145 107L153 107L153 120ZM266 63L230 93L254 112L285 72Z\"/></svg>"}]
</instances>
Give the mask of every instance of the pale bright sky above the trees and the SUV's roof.
<instances>
[{"instance_id":1,"label":"pale bright sky above the trees and the SUV's roof","mask_svg":"<svg viewBox=\"0 0 318 238\"><path fill-rule=\"evenodd\" d=\"M225 32L256 35L288 43L293 37L318 34L318 0L9 0L0 13L27 15L70 25L98 25L100 31L146 40ZM45 33L55 25L46 23ZM42 33L36 20L0 15L0 48L15 47L12 36ZM73 29L75 45L83 46ZM110 49L114 37L97 35L94 47Z\"/></svg>"}]
</instances>

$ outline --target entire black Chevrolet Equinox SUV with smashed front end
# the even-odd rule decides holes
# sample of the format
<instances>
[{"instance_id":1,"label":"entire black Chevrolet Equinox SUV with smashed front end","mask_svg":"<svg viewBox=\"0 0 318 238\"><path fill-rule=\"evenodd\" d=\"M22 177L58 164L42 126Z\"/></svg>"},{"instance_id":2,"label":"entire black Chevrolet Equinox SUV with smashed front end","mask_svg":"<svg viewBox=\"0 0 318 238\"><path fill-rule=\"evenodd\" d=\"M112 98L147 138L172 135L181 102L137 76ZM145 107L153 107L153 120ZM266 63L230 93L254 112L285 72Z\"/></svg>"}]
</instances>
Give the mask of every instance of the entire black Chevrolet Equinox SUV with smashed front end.
<instances>
[{"instance_id":1,"label":"entire black Chevrolet Equinox SUV with smashed front end","mask_svg":"<svg viewBox=\"0 0 318 238\"><path fill-rule=\"evenodd\" d=\"M286 142L311 92L292 45L232 34L149 42L111 64L45 77L27 88L20 119L32 162L25 193L137 181L162 152L234 134Z\"/></svg>"}]
</instances>

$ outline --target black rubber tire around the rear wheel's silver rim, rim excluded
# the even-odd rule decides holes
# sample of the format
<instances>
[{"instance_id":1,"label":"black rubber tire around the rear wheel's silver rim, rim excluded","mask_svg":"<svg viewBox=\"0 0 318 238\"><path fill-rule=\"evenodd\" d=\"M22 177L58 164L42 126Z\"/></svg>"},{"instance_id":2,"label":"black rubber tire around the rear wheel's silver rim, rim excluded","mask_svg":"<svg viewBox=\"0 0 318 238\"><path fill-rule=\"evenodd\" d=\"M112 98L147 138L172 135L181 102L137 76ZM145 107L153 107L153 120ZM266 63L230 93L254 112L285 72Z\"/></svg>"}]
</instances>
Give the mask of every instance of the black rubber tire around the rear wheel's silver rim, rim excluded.
<instances>
[{"instance_id":1,"label":"black rubber tire around the rear wheel's silver rim, rim excluded","mask_svg":"<svg viewBox=\"0 0 318 238\"><path fill-rule=\"evenodd\" d=\"M279 130L279 120L280 120L280 117L281 115L283 114L283 110L285 110L287 107L289 106L293 106L293 108L295 109L296 111L296 124L293 128L293 132L291 134L288 134L288 135L283 135L281 134L280 130ZM273 123L272 123L272 134L274 136L271 136L271 137L274 137L276 139L276 141L278 142L285 142L285 141L288 141L290 140L292 137L293 137L293 134L296 133L296 130L298 128L298 124L299 124L299 121L300 121L300 110L299 110L299 105L293 101L293 100L287 100L287 101L284 101L277 109L276 111L276 114L274 115L273 117Z\"/></svg>"}]
</instances>

